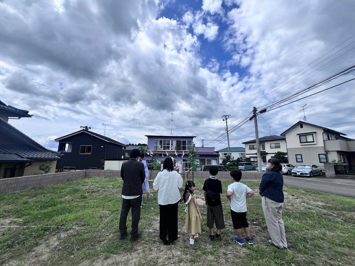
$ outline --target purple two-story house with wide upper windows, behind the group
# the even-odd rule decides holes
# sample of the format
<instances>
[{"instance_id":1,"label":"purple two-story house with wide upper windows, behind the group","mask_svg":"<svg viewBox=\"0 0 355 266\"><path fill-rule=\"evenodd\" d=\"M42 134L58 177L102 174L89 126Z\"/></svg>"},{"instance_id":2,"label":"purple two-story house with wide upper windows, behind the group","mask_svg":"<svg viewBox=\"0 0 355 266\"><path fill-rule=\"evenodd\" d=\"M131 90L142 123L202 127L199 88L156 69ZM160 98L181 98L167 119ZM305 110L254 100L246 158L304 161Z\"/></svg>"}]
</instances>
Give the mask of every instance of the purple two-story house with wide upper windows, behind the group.
<instances>
[{"instance_id":1,"label":"purple two-story house with wide upper windows, behind the group","mask_svg":"<svg viewBox=\"0 0 355 266\"><path fill-rule=\"evenodd\" d=\"M146 160L151 160L151 153L157 154L158 161L161 163L164 158L172 157L176 164L182 165L183 170L189 169L188 154L189 149L194 148L200 156L197 158L201 165L219 164L219 155L215 153L214 147L195 147L193 138L196 136L155 136L146 135L148 137L148 156Z\"/></svg>"}]
</instances>

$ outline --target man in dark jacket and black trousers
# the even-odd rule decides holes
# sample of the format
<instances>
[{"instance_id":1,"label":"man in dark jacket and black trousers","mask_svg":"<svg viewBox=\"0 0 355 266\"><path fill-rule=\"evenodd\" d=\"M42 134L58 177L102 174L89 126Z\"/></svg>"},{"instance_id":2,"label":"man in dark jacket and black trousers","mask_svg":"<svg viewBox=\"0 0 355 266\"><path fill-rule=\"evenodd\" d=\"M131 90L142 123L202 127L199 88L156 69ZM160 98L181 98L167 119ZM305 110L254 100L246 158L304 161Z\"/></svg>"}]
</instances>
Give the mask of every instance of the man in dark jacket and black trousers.
<instances>
[{"instance_id":1,"label":"man in dark jacket and black trousers","mask_svg":"<svg viewBox=\"0 0 355 266\"><path fill-rule=\"evenodd\" d=\"M142 184L146 177L143 163L138 162L140 151L132 149L129 155L130 160L123 163L121 167L121 177L123 179L122 187L122 209L120 216L120 240L126 238L127 234L127 216L129 209L132 208L132 231L130 241L136 241L140 238L138 223L140 219L140 204L142 201Z\"/></svg>"}]
</instances>

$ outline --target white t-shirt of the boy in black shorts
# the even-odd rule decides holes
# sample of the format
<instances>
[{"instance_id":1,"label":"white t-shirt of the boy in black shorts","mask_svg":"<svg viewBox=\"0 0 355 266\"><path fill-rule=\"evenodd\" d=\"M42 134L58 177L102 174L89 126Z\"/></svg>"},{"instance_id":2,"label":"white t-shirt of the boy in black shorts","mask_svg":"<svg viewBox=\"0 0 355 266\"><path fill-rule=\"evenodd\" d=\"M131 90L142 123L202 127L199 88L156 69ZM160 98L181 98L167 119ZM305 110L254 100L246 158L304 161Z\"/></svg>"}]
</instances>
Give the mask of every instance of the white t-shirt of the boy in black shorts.
<instances>
[{"instance_id":1,"label":"white t-shirt of the boy in black shorts","mask_svg":"<svg viewBox=\"0 0 355 266\"><path fill-rule=\"evenodd\" d=\"M227 191L233 193L231 197L231 209L235 212L246 212L245 195L252 191L247 185L240 182L233 182L228 185Z\"/></svg>"}]
</instances>

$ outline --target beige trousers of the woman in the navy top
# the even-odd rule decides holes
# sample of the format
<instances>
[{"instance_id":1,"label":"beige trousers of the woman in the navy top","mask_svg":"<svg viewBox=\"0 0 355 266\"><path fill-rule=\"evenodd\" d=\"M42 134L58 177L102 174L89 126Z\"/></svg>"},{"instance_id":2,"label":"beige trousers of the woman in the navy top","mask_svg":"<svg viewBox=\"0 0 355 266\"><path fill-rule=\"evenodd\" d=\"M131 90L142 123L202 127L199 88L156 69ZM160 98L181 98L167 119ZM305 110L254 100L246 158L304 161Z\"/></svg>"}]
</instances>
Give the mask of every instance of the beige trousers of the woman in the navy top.
<instances>
[{"instance_id":1,"label":"beige trousers of the woman in the navy top","mask_svg":"<svg viewBox=\"0 0 355 266\"><path fill-rule=\"evenodd\" d=\"M262 197L261 204L272 242L278 248L287 248L285 225L283 225L282 220L283 203L275 202L269 198Z\"/></svg>"}]
</instances>

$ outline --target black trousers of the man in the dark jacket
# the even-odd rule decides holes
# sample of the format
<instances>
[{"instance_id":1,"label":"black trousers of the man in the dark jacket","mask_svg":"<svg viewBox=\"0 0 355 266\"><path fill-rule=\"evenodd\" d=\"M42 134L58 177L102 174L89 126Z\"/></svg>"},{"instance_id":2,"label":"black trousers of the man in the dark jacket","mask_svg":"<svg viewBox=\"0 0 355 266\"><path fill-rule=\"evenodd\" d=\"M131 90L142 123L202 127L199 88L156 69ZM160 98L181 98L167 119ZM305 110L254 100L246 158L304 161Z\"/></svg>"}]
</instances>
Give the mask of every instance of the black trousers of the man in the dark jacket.
<instances>
[{"instance_id":1,"label":"black trousers of the man in the dark jacket","mask_svg":"<svg viewBox=\"0 0 355 266\"><path fill-rule=\"evenodd\" d=\"M120 224L119 224L119 229L121 234L127 233L126 223L127 223L127 216L130 208L132 208L131 236L136 236L138 234L138 223L140 220L141 201L142 201L141 195L138 198L131 199L131 200L122 199L122 208L121 208L121 216L120 216Z\"/></svg>"}]
</instances>

